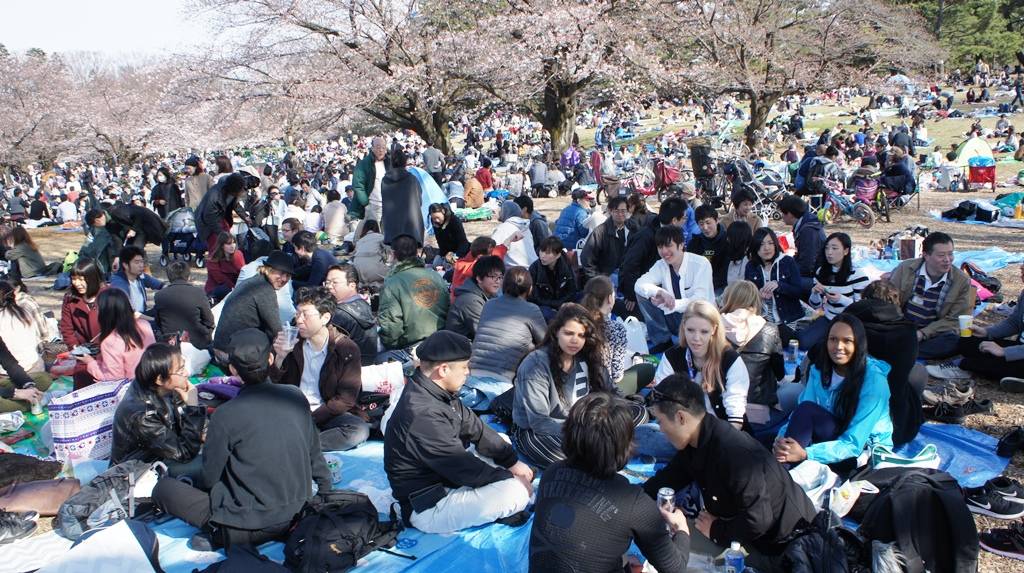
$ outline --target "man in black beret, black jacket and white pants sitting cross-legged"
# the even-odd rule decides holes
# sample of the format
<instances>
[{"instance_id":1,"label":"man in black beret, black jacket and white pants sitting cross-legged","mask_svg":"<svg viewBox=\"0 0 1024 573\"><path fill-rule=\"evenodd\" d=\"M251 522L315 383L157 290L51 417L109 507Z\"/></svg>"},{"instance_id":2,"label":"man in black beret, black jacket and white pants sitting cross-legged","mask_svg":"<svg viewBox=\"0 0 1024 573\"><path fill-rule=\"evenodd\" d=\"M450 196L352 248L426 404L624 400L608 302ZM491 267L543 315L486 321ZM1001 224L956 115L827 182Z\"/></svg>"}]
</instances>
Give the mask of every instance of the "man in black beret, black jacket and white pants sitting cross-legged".
<instances>
[{"instance_id":1,"label":"man in black beret, black jacket and white pants sitting cross-legged","mask_svg":"<svg viewBox=\"0 0 1024 573\"><path fill-rule=\"evenodd\" d=\"M471 351L469 339L449 330L423 341L420 367L384 430L391 492L406 523L426 533L524 523L532 493L532 470L459 400ZM466 449L469 443L475 453Z\"/></svg>"}]
</instances>

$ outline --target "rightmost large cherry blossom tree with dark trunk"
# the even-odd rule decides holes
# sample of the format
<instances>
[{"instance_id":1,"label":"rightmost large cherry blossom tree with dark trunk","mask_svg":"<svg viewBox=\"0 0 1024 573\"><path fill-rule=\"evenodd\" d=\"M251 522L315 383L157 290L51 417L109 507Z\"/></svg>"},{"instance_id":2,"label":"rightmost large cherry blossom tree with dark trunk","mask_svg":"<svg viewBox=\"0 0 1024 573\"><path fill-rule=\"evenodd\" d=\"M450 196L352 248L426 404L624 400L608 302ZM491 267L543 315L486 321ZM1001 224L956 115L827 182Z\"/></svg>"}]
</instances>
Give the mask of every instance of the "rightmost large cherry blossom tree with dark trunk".
<instances>
[{"instance_id":1,"label":"rightmost large cherry blossom tree with dark trunk","mask_svg":"<svg viewBox=\"0 0 1024 573\"><path fill-rule=\"evenodd\" d=\"M779 98L878 86L941 53L921 18L886 0L653 0L637 12L646 42L630 59L659 88L750 102L753 146Z\"/></svg>"}]
</instances>

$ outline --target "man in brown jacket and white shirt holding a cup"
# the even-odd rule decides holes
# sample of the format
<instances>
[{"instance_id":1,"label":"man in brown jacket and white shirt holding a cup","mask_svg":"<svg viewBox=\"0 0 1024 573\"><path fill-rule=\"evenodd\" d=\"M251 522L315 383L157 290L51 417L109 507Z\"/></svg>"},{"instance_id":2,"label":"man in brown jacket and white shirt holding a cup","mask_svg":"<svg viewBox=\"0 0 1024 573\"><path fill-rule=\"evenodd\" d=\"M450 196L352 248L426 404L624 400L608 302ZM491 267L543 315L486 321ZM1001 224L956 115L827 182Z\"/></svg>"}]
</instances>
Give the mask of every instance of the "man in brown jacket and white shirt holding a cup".
<instances>
[{"instance_id":1,"label":"man in brown jacket and white shirt holding a cup","mask_svg":"<svg viewBox=\"0 0 1024 573\"><path fill-rule=\"evenodd\" d=\"M299 344L274 343L270 380L299 387L309 401L313 422L322 431L338 429L334 449L351 449L370 437L370 425L358 407L362 388L359 347L333 326L337 305L325 289L303 286L295 297L295 325Z\"/></svg>"}]
</instances>

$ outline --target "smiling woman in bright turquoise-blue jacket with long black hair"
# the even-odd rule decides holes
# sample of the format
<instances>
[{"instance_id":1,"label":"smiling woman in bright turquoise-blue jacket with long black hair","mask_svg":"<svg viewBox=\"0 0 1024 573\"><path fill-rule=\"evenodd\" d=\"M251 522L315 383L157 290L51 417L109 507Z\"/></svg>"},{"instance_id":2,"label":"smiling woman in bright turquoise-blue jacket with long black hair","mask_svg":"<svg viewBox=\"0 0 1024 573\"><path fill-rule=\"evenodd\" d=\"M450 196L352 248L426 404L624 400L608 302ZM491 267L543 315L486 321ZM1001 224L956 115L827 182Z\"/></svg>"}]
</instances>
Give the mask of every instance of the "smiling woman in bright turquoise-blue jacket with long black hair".
<instances>
[{"instance_id":1,"label":"smiling woman in bright turquoise-blue jacket with long black hair","mask_svg":"<svg viewBox=\"0 0 1024 573\"><path fill-rule=\"evenodd\" d=\"M893 447L888 374L889 364L867 355L860 319L837 316L797 409L779 430L776 459L837 464L877 444Z\"/></svg>"}]
</instances>

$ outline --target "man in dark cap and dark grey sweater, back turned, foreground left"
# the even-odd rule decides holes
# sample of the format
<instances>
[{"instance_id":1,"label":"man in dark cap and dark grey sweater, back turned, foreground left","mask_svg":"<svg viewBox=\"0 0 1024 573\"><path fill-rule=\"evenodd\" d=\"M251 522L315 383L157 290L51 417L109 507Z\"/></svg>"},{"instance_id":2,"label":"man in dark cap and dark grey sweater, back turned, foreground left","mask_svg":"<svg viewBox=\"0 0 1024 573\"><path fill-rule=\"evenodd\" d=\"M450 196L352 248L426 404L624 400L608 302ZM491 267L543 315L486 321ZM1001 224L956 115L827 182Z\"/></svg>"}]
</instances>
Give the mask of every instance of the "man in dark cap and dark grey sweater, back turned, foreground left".
<instances>
[{"instance_id":1,"label":"man in dark cap and dark grey sweater, back turned, foreground left","mask_svg":"<svg viewBox=\"0 0 1024 573\"><path fill-rule=\"evenodd\" d=\"M332 489L309 402L298 388L267 381L273 356L266 335L234 333L228 362L245 385L210 418L197 484L203 489L171 478L153 489L157 505L203 530L193 537L196 549L283 539L312 498L311 482Z\"/></svg>"}]
</instances>

